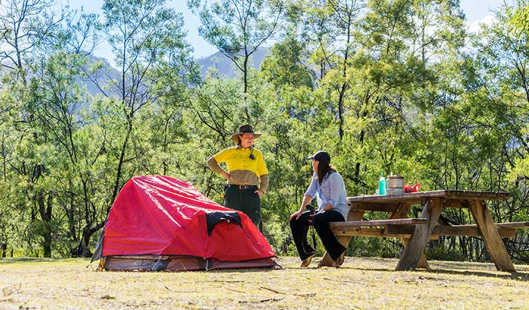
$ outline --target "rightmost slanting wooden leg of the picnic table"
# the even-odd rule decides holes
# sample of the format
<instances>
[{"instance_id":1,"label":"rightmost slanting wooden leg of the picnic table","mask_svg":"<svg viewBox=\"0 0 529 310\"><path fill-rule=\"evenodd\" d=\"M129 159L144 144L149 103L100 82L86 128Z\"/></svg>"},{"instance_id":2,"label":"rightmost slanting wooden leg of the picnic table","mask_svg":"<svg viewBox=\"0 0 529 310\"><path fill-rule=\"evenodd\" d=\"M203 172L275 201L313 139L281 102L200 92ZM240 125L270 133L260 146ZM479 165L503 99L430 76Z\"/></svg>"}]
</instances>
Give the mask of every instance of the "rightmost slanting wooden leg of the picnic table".
<instances>
[{"instance_id":1,"label":"rightmost slanting wooden leg of the picnic table","mask_svg":"<svg viewBox=\"0 0 529 310\"><path fill-rule=\"evenodd\" d=\"M481 233L481 237L483 237L488 254L490 254L490 258L496 265L496 269L516 271L485 202L483 200L472 200L468 203L468 207Z\"/></svg>"}]
</instances>

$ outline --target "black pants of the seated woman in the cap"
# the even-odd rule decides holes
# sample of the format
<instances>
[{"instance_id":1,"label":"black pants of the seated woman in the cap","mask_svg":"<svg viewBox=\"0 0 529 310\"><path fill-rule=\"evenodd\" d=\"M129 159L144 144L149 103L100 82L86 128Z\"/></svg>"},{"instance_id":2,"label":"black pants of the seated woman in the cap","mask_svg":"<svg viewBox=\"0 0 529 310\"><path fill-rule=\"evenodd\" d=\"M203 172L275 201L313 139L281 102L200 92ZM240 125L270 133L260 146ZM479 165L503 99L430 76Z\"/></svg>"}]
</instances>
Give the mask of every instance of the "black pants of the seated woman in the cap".
<instances>
[{"instance_id":1,"label":"black pants of the seated woman in the cap","mask_svg":"<svg viewBox=\"0 0 529 310\"><path fill-rule=\"evenodd\" d=\"M332 234L329 222L343 222L345 219L336 210L328 210L313 216L312 223L309 222L309 215L310 211L305 211L297 220L296 218L290 220L290 229L292 230L292 237L294 238L299 258L304 260L316 251L307 242L308 227L312 225L316 229L330 258L336 260L346 250L346 247L343 247L335 237L335 234Z\"/></svg>"}]
</instances>

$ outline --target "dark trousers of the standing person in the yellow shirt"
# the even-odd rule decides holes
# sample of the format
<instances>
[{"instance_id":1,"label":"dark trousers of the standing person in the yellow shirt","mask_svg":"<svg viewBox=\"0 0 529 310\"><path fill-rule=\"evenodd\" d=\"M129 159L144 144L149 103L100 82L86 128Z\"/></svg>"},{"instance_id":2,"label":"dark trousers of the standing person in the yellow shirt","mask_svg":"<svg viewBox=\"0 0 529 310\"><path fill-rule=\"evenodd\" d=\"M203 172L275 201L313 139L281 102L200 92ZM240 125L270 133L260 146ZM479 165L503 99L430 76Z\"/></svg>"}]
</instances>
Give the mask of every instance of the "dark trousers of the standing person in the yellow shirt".
<instances>
[{"instance_id":1,"label":"dark trousers of the standing person in the yellow shirt","mask_svg":"<svg viewBox=\"0 0 529 310\"><path fill-rule=\"evenodd\" d=\"M255 191L257 191L257 186L247 189L239 189L233 186L226 187L224 189L224 207L244 212L255 226L260 227L261 198Z\"/></svg>"}]
</instances>

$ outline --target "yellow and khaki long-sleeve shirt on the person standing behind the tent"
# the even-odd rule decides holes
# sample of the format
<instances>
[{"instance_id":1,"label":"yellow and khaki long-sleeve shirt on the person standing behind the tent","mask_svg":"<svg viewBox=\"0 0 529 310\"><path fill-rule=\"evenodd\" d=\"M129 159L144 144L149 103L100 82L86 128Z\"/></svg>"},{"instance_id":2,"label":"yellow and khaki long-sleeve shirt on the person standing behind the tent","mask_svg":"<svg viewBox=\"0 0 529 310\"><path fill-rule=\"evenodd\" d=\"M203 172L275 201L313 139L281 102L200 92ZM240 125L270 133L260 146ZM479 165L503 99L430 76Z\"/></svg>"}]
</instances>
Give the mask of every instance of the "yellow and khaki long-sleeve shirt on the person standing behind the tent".
<instances>
[{"instance_id":1,"label":"yellow and khaki long-sleeve shirt on the person standing behind the tent","mask_svg":"<svg viewBox=\"0 0 529 310\"><path fill-rule=\"evenodd\" d=\"M255 159L250 158L253 154ZM268 169L259 149L243 149L239 145L228 147L211 156L207 164L217 174L222 172L220 163L226 163L231 176L228 184L257 185L261 192L268 189Z\"/></svg>"}]
</instances>

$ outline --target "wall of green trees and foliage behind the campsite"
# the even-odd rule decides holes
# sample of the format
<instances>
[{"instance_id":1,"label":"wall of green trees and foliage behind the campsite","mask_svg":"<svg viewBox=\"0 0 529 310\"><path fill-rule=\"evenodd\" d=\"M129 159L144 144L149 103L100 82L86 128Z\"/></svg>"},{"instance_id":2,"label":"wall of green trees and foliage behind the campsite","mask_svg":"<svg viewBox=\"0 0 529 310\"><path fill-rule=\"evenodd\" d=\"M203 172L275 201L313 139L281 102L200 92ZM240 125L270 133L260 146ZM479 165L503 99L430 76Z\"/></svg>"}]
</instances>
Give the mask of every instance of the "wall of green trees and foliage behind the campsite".
<instances>
[{"instance_id":1,"label":"wall of green trees and foliage behind the campsite","mask_svg":"<svg viewBox=\"0 0 529 310\"><path fill-rule=\"evenodd\" d=\"M510 200L488 206L495 220L528 220L524 3L469 35L458 1L188 1L204 39L239 66L236 79L199 76L181 14L163 0L106 0L101 19L50 17L38 44L0 53L0 245L16 256L90 256L134 175L188 180L222 203L225 181L206 160L231 146L243 123L264 133L256 141L270 172L263 233L277 254L296 254L288 216L312 174L306 157L319 149L348 196L372 194L380 172L392 172L421 190L508 191ZM0 45L9 45L3 27ZM259 71L250 68L275 34ZM99 39L119 74L90 61ZM89 95L81 80L101 94ZM468 224L472 215L446 210L441 220ZM527 239L508 244L519 262ZM486 260L483 249L479 240L441 238L426 254ZM353 256L400 251L400 240L381 238L353 238L348 248Z\"/></svg>"}]
</instances>

